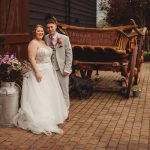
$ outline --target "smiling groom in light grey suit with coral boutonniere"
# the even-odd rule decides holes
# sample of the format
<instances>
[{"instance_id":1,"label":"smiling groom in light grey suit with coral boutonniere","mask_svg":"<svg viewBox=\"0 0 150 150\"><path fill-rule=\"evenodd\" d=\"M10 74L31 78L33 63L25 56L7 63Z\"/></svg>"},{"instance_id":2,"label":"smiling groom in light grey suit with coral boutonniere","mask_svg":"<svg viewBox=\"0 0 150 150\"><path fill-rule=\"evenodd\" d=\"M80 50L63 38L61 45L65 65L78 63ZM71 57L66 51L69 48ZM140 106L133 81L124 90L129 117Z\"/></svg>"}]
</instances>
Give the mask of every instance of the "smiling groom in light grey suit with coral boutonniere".
<instances>
[{"instance_id":1,"label":"smiling groom in light grey suit with coral boutonniere","mask_svg":"<svg viewBox=\"0 0 150 150\"><path fill-rule=\"evenodd\" d=\"M47 34L45 42L53 49L52 64L57 72L58 80L63 91L67 108L70 107L69 100L69 75L72 66L72 48L69 38L56 31L57 20L50 18L46 24Z\"/></svg>"}]
</instances>

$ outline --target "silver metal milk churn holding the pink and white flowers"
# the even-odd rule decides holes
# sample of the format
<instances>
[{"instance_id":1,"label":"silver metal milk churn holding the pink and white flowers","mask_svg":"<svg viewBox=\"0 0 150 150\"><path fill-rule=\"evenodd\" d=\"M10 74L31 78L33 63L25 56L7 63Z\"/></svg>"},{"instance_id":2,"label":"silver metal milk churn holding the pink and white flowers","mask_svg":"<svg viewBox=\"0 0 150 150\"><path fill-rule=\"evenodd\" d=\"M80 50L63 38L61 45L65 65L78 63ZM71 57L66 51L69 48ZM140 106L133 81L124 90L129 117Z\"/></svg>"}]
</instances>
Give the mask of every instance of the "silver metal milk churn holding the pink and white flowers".
<instances>
[{"instance_id":1,"label":"silver metal milk churn holding the pink and white flowers","mask_svg":"<svg viewBox=\"0 0 150 150\"><path fill-rule=\"evenodd\" d=\"M15 82L1 82L0 127L11 127L12 119L18 112L19 88Z\"/></svg>"}]
</instances>

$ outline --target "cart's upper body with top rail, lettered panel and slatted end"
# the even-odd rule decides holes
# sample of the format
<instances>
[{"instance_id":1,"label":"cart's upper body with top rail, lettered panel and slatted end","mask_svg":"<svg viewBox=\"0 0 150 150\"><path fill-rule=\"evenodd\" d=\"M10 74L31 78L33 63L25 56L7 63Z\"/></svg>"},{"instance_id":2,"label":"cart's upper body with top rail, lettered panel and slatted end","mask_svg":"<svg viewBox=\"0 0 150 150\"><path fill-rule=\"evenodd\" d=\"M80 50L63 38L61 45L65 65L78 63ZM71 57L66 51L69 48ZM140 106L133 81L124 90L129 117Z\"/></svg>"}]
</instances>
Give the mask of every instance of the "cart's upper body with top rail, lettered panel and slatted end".
<instances>
[{"instance_id":1,"label":"cart's upper body with top rail, lettered panel and slatted end","mask_svg":"<svg viewBox=\"0 0 150 150\"><path fill-rule=\"evenodd\" d=\"M84 28L63 24L61 28L69 36L72 47L114 47L116 50L125 50L129 38L124 33L131 32L135 26Z\"/></svg>"}]
</instances>

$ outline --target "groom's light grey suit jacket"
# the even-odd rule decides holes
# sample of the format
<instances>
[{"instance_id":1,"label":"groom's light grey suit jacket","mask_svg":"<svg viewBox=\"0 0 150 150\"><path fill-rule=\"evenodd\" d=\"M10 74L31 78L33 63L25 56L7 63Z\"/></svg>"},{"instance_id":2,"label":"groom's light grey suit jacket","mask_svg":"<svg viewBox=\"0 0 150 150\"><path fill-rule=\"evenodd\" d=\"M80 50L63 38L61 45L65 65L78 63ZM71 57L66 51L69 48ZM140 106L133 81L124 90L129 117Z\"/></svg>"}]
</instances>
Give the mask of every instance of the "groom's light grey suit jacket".
<instances>
[{"instance_id":1,"label":"groom's light grey suit jacket","mask_svg":"<svg viewBox=\"0 0 150 150\"><path fill-rule=\"evenodd\" d=\"M57 38L62 39L62 44L56 43L54 45L55 50L56 50L56 59L58 62L59 69L62 74L64 73L64 71L71 73L73 54L72 54L72 48L71 48L71 44L69 41L69 37L60 33L57 33L57 35L58 35ZM51 47L49 34L45 36L44 40L46 44Z\"/></svg>"}]
</instances>

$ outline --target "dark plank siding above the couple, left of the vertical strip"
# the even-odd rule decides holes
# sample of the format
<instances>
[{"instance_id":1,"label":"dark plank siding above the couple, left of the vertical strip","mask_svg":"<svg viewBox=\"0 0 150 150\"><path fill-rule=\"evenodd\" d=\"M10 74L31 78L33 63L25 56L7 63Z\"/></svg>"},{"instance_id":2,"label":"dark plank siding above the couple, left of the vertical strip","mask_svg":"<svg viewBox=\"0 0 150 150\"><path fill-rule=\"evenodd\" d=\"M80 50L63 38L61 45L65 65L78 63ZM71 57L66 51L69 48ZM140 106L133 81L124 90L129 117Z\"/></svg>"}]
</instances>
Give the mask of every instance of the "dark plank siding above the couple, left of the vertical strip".
<instances>
[{"instance_id":1,"label":"dark plank siding above the couple, left of the vertical strip","mask_svg":"<svg viewBox=\"0 0 150 150\"><path fill-rule=\"evenodd\" d=\"M66 22L66 0L30 0L29 30L36 24L45 25L48 16L53 15L58 20Z\"/></svg>"}]
</instances>

